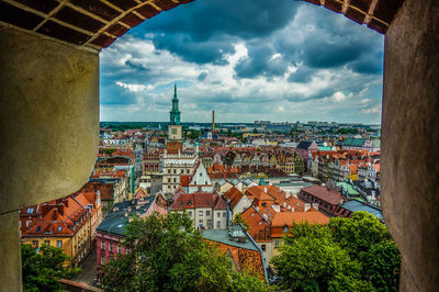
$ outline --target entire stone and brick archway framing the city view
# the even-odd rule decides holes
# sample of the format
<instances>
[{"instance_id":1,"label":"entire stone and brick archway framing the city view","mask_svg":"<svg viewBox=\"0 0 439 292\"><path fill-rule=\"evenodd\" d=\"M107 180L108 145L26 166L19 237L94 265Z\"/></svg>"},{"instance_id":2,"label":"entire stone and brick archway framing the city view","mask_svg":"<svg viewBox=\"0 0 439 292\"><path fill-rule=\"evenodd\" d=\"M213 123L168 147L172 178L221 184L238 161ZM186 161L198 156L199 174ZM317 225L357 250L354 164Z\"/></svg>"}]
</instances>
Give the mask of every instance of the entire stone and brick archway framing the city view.
<instances>
[{"instance_id":1,"label":"entire stone and brick archway framing the city view","mask_svg":"<svg viewBox=\"0 0 439 292\"><path fill-rule=\"evenodd\" d=\"M94 165L98 53L131 27L191 1L0 0L0 249L8 251L0 257L0 290L21 290L16 211L76 191ZM386 35L384 217L403 254L401 290L435 291L439 2L305 1Z\"/></svg>"}]
</instances>

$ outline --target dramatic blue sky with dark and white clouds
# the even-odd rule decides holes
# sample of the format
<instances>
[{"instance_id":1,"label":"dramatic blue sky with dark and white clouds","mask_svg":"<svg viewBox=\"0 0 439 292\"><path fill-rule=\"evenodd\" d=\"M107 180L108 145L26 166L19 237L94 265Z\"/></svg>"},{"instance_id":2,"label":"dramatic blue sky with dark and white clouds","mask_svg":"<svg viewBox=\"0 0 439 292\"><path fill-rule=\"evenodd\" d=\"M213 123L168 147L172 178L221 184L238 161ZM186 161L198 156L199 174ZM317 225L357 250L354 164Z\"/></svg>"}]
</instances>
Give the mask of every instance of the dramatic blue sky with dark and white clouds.
<instances>
[{"instance_id":1,"label":"dramatic blue sky with dark and white clouds","mask_svg":"<svg viewBox=\"0 0 439 292\"><path fill-rule=\"evenodd\" d=\"M383 41L306 2L196 0L101 53L101 121L167 121L177 82L183 122L380 123Z\"/></svg>"}]
</instances>

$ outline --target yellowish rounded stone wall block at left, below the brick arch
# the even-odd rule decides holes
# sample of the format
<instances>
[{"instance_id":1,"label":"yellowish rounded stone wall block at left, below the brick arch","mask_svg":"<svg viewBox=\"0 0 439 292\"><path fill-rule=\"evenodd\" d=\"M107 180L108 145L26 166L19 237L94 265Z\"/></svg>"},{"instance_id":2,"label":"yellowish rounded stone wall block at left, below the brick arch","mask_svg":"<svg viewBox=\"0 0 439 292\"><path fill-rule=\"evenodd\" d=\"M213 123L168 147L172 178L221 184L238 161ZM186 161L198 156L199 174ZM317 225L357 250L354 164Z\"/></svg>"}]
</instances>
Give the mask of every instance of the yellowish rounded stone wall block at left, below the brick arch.
<instances>
[{"instance_id":1,"label":"yellowish rounded stone wall block at left, below the brick arch","mask_svg":"<svg viewBox=\"0 0 439 292\"><path fill-rule=\"evenodd\" d=\"M98 153L99 56L0 26L0 214L86 183Z\"/></svg>"}]
</instances>

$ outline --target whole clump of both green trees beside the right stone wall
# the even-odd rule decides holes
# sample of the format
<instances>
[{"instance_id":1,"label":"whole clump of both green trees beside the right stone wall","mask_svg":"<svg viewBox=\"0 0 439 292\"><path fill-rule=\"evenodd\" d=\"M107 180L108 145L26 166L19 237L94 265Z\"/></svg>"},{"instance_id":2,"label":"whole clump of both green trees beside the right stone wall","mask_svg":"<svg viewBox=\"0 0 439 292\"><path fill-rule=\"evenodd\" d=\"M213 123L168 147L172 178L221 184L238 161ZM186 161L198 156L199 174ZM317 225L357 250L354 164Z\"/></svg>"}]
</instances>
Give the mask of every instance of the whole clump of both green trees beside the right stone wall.
<instances>
[{"instance_id":1,"label":"whole clump of both green trees beside the right stone wall","mask_svg":"<svg viewBox=\"0 0 439 292\"><path fill-rule=\"evenodd\" d=\"M367 212L327 226L293 224L272 263L293 291L397 291L401 255L384 224Z\"/></svg>"}]
</instances>

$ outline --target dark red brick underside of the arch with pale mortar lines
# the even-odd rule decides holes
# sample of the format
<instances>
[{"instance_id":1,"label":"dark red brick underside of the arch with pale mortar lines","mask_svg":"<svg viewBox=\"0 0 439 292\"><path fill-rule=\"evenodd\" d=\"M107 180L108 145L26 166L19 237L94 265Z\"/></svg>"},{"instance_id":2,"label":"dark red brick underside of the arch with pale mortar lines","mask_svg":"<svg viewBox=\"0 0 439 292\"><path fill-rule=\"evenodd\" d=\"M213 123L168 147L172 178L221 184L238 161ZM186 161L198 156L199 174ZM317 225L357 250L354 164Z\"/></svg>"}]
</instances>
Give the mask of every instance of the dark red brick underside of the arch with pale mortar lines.
<instances>
[{"instance_id":1,"label":"dark red brick underside of the arch with pale mortar lines","mask_svg":"<svg viewBox=\"0 0 439 292\"><path fill-rule=\"evenodd\" d=\"M1 0L0 22L100 50L150 18L193 0ZM385 33L403 0L302 0ZM269 3L269 2L268 2Z\"/></svg>"}]
</instances>

